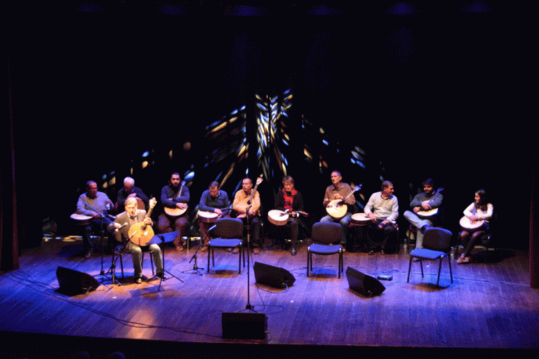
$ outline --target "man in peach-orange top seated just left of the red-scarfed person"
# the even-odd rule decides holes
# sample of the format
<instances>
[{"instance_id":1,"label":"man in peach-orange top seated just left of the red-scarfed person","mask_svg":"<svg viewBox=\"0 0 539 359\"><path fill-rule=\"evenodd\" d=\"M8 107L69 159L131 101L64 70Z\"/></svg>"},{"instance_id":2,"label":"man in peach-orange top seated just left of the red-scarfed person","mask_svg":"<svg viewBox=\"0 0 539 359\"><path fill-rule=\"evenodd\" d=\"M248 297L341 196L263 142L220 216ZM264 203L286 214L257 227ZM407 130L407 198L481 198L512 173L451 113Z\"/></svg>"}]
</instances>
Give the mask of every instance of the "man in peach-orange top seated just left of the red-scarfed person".
<instances>
[{"instance_id":1,"label":"man in peach-orange top seated just left of the red-scarfed person","mask_svg":"<svg viewBox=\"0 0 539 359\"><path fill-rule=\"evenodd\" d=\"M253 197L252 201L248 203L251 196ZM255 255L260 254L260 248L262 248L260 241L260 223L262 222L260 219L260 194L258 191L253 193L253 181L250 178L244 178L241 181L241 189L234 195L232 209L239 214L237 218L240 218L244 225L247 224L247 218L249 219L252 233L251 247ZM234 248L234 253L238 251L237 248Z\"/></svg>"}]
</instances>

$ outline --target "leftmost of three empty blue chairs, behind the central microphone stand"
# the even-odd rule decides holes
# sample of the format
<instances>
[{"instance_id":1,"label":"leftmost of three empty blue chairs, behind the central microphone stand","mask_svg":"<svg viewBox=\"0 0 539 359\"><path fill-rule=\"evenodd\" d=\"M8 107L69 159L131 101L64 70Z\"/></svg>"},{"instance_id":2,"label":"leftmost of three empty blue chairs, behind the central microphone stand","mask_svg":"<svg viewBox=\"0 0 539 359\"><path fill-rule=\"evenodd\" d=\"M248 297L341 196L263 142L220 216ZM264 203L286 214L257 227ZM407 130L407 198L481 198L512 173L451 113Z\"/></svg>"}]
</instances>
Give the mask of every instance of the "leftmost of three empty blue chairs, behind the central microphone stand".
<instances>
[{"instance_id":1,"label":"leftmost of three empty blue chairs, behind the central microphone stand","mask_svg":"<svg viewBox=\"0 0 539 359\"><path fill-rule=\"evenodd\" d=\"M245 266L245 254L244 245L241 241L241 236L244 234L244 222L237 218L220 218L215 221L215 229L213 229L215 238L208 241L208 269L210 272L210 253L212 266L215 266L215 257L213 251L215 248L227 249L227 248L239 248L239 264L238 273L241 273L241 256L244 256Z\"/></svg>"}]
</instances>

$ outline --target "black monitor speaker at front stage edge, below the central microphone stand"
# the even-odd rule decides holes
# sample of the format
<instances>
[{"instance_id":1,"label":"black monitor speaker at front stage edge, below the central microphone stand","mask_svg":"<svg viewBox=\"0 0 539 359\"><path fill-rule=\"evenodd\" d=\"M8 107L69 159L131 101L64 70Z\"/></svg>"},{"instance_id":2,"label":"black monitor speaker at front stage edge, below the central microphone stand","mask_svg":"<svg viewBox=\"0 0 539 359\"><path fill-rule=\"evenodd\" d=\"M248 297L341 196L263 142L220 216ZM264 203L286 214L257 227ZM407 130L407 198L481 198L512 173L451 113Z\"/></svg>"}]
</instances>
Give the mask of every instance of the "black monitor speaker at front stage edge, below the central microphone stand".
<instances>
[{"instance_id":1,"label":"black monitor speaker at front stage edge, below the central microphone stand","mask_svg":"<svg viewBox=\"0 0 539 359\"><path fill-rule=\"evenodd\" d=\"M266 339L267 316L264 313L222 313L224 339Z\"/></svg>"}]
</instances>

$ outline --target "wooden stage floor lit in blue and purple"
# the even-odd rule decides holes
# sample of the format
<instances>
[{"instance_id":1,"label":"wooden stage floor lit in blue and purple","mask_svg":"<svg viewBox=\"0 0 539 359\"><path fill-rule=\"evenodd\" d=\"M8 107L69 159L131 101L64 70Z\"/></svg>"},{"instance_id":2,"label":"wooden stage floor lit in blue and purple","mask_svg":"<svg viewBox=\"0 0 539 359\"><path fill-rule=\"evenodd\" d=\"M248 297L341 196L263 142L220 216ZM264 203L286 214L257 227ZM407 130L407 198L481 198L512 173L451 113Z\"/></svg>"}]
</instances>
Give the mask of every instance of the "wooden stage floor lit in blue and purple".
<instances>
[{"instance_id":1,"label":"wooden stage floor lit in blue and purple","mask_svg":"<svg viewBox=\"0 0 539 359\"><path fill-rule=\"evenodd\" d=\"M231 346L221 348L262 344L256 347L267 348L258 349L266 357L277 348L283 350L283 346L272 344L311 344L302 347L310 348L315 357L326 346L345 346L347 350L358 346L399 348L400 355L391 355L399 357L408 356L405 353L421 356L418 347L436 348L437 358L448 355L441 348L488 348L495 349L493 353L498 356L514 353L507 349L528 353L538 348L539 291L529 287L527 252L491 252L486 264L457 265L453 260L453 284L445 261L440 287L435 285L437 262L424 263L425 278L421 278L419 263L414 263L410 283L406 283L408 256L402 249L398 255L346 252L345 271L351 266L370 276L393 276L391 281L382 281L386 289L380 296L363 297L350 290L345 273L340 280L337 278L337 256L315 257L314 273L307 278L307 243L300 245L295 257L280 248L251 256L249 283L246 269L237 273L237 255L216 251L215 267L207 274L207 253L201 254L198 264L204 267L204 275L199 276L182 273L192 269L189 259L194 249L178 253L168 245L165 248L166 270L183 283L171 278L162 283L159 292L159 280L137 285L131 255L124 255L126 278L120 279L124 285L105 280L97 290L74 297L55 292L59 287L56 269L64 266L100 281L99 255L91 259L76 257L81 250L80 240L51 239L44 241L41 248L27 250L20 258L20 269L0 276L1 331L15 339L4 341L4 348L19 348L12 345L20 337L39 345L36 343L42 339L34 336L44 334L46 341L62 343L41 349L48 351L64 350L60 348L68 343L69 350L86 348L111 338L116 338L117 344L126 341L121 344L124 351L135 347L129 339L137 339L156 352L168 350L164 343L182 342L182 348L191 345L194 351L200 344L206 344L204 348L223 343ZM482 258L480 253L474 257ZM105 255L105 271L111 258ZM254 261L290 271L295 277L294 285L288 290L256 285ZM151 276L148 255L143 271ZM247 285L255 311L267 314L267 339L222 339L221 313L245 309ZM415 352L409 352L411 348ZM24 351L23 347L19 349ZM350 355L361 352L365 353L350 351ZM129 358L136 356L131 353ZM197 355L201 356L204 355Z\"/></svg>"}]
</instances>

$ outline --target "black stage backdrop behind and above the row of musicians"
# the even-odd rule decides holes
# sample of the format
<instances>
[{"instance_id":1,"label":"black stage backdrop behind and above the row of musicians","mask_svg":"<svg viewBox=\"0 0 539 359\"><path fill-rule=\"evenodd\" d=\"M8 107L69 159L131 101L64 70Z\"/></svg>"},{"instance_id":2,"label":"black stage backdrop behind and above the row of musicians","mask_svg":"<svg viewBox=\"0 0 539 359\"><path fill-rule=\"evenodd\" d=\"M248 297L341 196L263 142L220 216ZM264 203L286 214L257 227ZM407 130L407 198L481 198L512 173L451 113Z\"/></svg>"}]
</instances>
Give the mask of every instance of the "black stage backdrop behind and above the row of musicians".
<instances>
[{"instance_id":1,"label":"black stage backdrop behind and above the row of musicians","mask_svg":"<svg viewBox=\"0 0 539 359\"><path fill-rule=\"evenodd\" d=\"M107 189L113 196L131 161L136 185L157 197L171 172L194 165L194 205L218 175L204 168L220 145L205 140L206 126L252 106L257 93L290 88L289 123L303 117L324 129L296 130L300 145L291 147L288 165L312 220L323 214L333 169L345 182L363 183L366 198L380 190L380 176L392 180L401 213L422 180L433 177L446 189L450 229L458 230L474 191L484 188L504 241L527 248L535 129L526 111L527 69L519 65L527 29L515 29L514 9L463 13L462 4L417 3L420 13L388 15L393 3L358 4L317 16L305 15L307 6L276 4L262 8L267 16L239 17L220 15L222 4L181 4L186 15L156 15L133 2L100 4L107 9L101 12L80 12L79 5L46 15L18 9L9 63L25 246L39 243L47 217L67 231L88 179L102 184L100 177L114 171L117 186ZM303 143L328 167L305 161ZM342 151L356 145L366 152L365 169ZM260 171L253 149L251 174ZM145 171L144 151L154 161ZM226 182L231 199L242 177L235 170Z\"/></svg>"}]
</instances>

